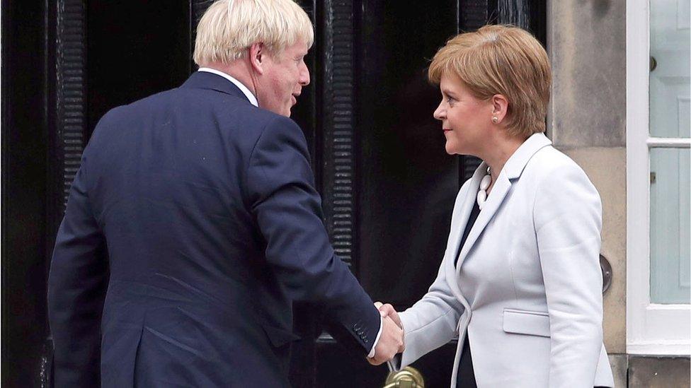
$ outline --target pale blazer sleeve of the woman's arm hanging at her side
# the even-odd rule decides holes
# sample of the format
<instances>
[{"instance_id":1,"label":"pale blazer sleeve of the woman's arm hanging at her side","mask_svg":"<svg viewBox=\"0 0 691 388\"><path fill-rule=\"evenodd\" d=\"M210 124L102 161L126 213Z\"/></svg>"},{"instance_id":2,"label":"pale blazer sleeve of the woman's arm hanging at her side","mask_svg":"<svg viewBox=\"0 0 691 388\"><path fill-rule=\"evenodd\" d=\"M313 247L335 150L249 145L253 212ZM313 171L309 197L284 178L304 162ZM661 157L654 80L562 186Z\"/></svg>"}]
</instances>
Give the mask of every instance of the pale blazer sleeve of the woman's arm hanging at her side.
<instances>
[{"instance_id":1,"label":"pale blazer sleeve of the woman's arm hanging at her side","mask_svg":"<svg viewBox=\"0 0 691 388\"><path fill-rule=\"evenodd\" d=\"M538 182L534 207L547 297L550 387L593 387L603 346L600 195L575 163Z\"/></svg>"}]
</instances>

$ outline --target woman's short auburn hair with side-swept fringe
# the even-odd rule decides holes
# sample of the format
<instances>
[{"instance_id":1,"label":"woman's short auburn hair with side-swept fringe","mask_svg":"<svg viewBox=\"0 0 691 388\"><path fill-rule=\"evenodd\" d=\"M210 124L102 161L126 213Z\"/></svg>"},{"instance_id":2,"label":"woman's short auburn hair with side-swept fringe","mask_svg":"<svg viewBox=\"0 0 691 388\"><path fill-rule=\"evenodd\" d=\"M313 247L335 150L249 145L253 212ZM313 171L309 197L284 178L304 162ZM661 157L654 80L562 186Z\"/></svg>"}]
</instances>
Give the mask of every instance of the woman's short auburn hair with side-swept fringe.
<instances>
[{"instance_id":1,"label":"woman's short auburn hair with side-swept fringe","mask_svg":"<svg viewBox=\"0 0 691 388\"><path fill-rule=\"evenodd\" d=\"M456 76L479 99L508 99L506 129L512 136L544 132L552 71L540 43L513 25L485 25L453 37L439 49L428 76Z\"/></svg>"}]
</instances>

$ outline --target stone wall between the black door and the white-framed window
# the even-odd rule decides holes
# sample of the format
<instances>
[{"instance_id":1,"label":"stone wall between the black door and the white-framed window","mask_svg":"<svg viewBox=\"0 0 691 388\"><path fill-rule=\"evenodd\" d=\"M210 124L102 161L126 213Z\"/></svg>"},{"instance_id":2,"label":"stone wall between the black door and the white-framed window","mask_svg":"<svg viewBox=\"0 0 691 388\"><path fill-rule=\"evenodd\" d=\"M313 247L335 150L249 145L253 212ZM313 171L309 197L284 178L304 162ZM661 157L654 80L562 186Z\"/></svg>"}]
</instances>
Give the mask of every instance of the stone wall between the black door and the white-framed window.
<instances>
[{"instance_id":1,"label":"stone wall between the black door and the white-framed window","mask_svg":"<svg viewBox=\"0 0 691 388\"><path fill-rule=\"evenodd\" d=\"M601 254L613 272L604 334L615 384L688 387L689 358L626 353L626 1L547 1L547 52L554 75L548 135L603 200Z\"/></svg>"}]
</instances>

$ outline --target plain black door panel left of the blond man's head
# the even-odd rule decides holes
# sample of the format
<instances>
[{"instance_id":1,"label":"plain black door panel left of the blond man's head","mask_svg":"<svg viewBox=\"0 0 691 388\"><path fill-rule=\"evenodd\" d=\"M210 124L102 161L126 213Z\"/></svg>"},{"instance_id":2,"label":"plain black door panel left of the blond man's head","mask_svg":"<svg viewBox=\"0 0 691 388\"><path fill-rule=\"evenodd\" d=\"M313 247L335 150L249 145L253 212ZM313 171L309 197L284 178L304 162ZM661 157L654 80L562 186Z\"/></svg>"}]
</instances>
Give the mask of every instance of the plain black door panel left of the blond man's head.
<instances>
[{"instance_id":1,"label":"plain black door panel left of the blond man's head","mask_svg":"<svg viewBox=\"0 0 691 388\"><path fill-rule=\"evenodd\" d=\"M103 114L190 75L188 0L86 1L87 139Z\"/></svg>"}]
</instances>

